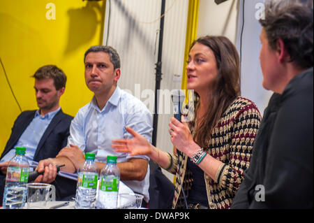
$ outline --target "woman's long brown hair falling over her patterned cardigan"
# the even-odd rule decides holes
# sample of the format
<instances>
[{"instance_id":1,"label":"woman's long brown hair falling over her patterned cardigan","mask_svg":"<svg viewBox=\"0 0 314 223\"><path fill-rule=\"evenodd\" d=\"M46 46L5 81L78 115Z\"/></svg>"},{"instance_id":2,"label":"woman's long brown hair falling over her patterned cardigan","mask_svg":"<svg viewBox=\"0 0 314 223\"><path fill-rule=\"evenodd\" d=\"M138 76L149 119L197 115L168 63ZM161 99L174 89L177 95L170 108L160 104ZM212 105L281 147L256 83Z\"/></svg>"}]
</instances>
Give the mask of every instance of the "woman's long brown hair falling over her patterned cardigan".
<instances>
[{"instance_id":1,"label":"woman's long brown hair falling over her patterned cardigan","mask_svg":"<svg viewBox=\"0 0 314 223\"><path fill-rule=\"evenodd\" d=\"M209 47L216 58L218 74L209 87L209 108L204 117L197 117L200 125L195 129L194 140L203 148L208 146L211 131L225 110L241 94L239 54L233 43L224 36L204 36L193 42ZM200 96L195 92L195 111L200 108ZM196 115L195 115L196 118ZM202 120L202 122L200 122Z\"/></svg>"}]
</instances>

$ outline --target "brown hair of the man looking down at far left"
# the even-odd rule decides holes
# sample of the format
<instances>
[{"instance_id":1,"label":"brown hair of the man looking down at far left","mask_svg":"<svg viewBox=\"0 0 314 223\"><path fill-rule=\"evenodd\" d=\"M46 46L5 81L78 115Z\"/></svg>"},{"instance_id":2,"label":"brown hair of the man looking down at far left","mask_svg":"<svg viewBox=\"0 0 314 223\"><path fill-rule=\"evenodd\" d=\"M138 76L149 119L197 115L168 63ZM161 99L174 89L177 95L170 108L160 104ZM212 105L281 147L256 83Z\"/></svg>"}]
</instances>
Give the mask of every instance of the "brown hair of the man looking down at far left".
<instances>
[{"instance_id":1,"label":"brown hair of the man looking down at far left","mask_svg":"<svg viewBox=\"0 0 314 223\"><path fill-rule=\"evenodd\" d=\"M59 90L62 87L66 87L66 74L63 73L61 69L59 69L55 65L46 65L40 67L34 75L33 78L36 80L43 79L52 79L54 80L54 87Z\"/></svg>"}]
</instances>

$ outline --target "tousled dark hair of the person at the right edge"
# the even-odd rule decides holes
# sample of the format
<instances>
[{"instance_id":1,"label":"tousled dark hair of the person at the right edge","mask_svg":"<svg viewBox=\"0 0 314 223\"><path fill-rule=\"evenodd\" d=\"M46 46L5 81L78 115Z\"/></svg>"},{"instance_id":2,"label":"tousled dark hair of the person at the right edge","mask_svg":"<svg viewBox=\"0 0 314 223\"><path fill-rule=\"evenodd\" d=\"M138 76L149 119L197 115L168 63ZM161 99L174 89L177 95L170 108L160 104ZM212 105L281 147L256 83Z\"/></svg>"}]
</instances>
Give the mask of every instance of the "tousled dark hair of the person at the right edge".
<instances>
[{"instance_id":1,"label":"tousled dark hair of the person at the right edge","mask_svg":"<svg viewBox=\"0 0 314 223\"><path fill-rule=\"evenodd\" d=\"M265 17L260 24L272 50L282 39L290 62L303 69L313 66L313 0L266 1Z\"/></svg>"}]
</instances>

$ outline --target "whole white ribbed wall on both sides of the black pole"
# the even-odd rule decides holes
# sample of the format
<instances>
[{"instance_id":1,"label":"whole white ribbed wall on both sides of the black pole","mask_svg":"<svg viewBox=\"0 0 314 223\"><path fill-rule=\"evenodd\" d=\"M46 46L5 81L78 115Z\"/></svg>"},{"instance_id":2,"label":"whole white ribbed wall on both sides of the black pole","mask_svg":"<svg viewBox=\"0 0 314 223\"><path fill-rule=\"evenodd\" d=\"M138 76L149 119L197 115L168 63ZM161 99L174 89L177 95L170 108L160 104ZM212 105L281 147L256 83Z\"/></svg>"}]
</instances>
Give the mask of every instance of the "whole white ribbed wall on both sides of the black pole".
<instances>
[{"instance_id":1,"label":"whole white ribbed wall on both sides of the black pole","mask_svg":"<svg viewBox=\"0 0 314 223\"><path fill-rule=\"evenodd\" d=\"M111 6L110 6L111 3ZM110 18L109 18L110 8ZM138 96L154 113L153 104L147 97L140 97L145 89L155 91L156 62L160 27L161 0L107 0L103 44L112 45L121 57L121 89L129 89ZM161 89L180 89L184 62L186 19L188 0L166 0L165 27L163 32L162 80ZM108 20L110 21L107 36ZM157 36L156 36L157 34ZM108 40L107 40L108 38ZM179 75L173 80L174 74ZM164 106L164 101L160 101ZM171 108L172 112L172 108ZM172 114L163 111L158 115L157 147L172 152L173 145L168 134L168 123ZM164 172L170 180L173 175Z\"/></svg>"}]
</instances>

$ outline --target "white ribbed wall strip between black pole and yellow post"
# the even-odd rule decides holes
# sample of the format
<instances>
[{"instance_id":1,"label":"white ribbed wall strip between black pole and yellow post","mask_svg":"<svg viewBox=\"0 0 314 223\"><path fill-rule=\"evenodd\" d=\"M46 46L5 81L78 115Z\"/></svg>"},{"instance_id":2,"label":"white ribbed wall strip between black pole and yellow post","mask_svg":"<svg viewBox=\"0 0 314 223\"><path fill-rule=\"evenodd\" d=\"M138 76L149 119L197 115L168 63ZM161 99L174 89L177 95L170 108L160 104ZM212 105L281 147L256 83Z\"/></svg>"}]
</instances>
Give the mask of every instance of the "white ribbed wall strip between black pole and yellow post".
<instances>
[{"instance_id":1,"label":"white ribbed wall strip between black pole and yellow post","mask_svg":"<svg viewBox=\"0 0 314 223\"><path fill-rule=\"evenodd\" d=\"M162 59L163 80L161 80L160 85L160 89L169 90L181 89L184 48L186 44L186 20L188 15L188 0L166 0L166 10L170 8L173 2L174 4L171 10L165 15ZM174 78L174 75L179 75L180 77ZM160 103L165 104L165 101L161 101ZM172 114L165 114L165 112L158 116L157 146L166 152L173 151L173 145L168 132L168 124L171 117L173 117ZM164 170L163 173L167 175L170 180L173 180L172 174Z\"/></svg>"}]
</instances>

